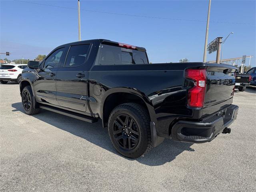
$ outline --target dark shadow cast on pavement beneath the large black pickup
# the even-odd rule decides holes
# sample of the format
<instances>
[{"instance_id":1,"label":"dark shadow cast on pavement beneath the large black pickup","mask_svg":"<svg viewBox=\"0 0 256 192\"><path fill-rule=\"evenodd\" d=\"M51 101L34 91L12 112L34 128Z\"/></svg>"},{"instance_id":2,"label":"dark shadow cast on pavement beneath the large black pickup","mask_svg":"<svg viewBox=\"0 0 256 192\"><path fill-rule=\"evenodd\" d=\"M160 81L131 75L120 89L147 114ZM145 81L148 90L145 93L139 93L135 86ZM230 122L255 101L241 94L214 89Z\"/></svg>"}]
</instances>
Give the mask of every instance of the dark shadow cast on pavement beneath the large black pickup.
<instances>
[{"instance_id":1,"label":"dark shadow cast on pavement beneath the large black pickup","mask_svg":"<svg viewBox=\"0 0 256 192\"><path fill-rule=\"evenodd\" d=\"M12 104L12 107L15 108L12 110L13 112L20 111L24 113L21 102ZM94 124L90 124L82 120L77 120L75 118L47 110L42 110L40 114L33 115L33 117L52 126L55 126L56 128L70 132L75 136L84 138L87 141L96 144L118 156L122 156L115 150L114 146L110 142L108 130L102 127L100 121ZM149 166L159 166L167 162L171 162L176 158L176 156L184 151L194 151L193 148L190 148L191 145L191 143L175 142L170 139L165 139L162 144L156 148L153 148L151 152L135 160ZM126 158L124 156L122 157ZM131 161L134 160L129 158L126 159Z\"/></svg>"}]
</instances>

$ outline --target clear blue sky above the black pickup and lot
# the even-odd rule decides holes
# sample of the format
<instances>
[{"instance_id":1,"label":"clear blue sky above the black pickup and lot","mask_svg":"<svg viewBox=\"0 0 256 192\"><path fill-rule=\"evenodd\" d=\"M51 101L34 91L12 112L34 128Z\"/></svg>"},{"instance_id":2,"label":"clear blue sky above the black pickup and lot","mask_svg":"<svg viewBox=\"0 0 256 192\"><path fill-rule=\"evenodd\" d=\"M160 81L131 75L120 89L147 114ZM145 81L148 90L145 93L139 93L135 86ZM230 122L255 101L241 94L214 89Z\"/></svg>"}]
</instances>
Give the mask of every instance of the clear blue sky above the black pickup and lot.
<instances>
[{"instance_id":1,"label":"clear blue sky above the black pickup and lot","mask_svg":"<svg viewBox=\"0 0 256 192\"><path fill-rule=\"evenodd\" d=\"M0 52L12 53L10 60L33 59L38 54L48 54L56 46L78 40L77 0L24 1L71 9L0 0ZM223 58L256 55L255 7L256 1L212 0L208 42L234 32L224 44ZM185 57L191 62L202 62L206 22L200 21L206 21L208 0L80 0L80 8L82 40L105 38L143 46L153 63L178 62ZM216 52L207 55L208 61L215 59ZM255 58L251 64L256 66Z\"/></svg>"}]
</instances>

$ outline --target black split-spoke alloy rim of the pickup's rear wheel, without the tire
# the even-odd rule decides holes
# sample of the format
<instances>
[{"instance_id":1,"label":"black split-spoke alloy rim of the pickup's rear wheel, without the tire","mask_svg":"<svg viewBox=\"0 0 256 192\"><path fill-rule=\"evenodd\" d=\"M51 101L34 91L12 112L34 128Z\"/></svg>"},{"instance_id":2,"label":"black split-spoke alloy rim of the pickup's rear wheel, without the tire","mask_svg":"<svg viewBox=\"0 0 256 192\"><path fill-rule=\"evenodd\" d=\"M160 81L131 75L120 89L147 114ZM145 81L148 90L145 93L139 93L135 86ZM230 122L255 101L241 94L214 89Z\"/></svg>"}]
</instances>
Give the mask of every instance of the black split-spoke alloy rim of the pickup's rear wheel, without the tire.
<instances>
[{"instance_id":1,"label":"black split-spoke alloy rim of the pickup's rear wheel, without the tire","mask_svg":"<svg viewBox=\"0 0 256 192\"><path fill-rule=\"evenodd\" d=\"M114 120L113 135L116 143L121 148L132 150L138 145L140 131L131 116L120 114Z\"/></svg>"}]
</instances>

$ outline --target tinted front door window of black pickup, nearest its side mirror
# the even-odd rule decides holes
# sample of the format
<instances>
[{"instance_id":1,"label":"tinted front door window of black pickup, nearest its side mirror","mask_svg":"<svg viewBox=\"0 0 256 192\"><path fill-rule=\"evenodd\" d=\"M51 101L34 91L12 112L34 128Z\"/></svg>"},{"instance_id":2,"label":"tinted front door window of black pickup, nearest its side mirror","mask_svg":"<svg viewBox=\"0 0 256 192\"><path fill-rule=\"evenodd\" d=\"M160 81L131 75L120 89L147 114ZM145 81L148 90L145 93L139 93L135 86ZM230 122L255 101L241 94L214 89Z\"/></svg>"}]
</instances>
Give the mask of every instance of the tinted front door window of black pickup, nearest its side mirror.
<instances>
[{"instance_id":1,"label":"tinted front door window of black pickup, nearest its side mirror","mask_svg":"<svg viewBox=\"0 0 256 192\"><path fill-rule=\"evenodd\" d=\"M60 66L60 61L64 56L65 48L60 48L54 51L44 62L44 68L57 68Z\"/></svg>"}]
</instances>

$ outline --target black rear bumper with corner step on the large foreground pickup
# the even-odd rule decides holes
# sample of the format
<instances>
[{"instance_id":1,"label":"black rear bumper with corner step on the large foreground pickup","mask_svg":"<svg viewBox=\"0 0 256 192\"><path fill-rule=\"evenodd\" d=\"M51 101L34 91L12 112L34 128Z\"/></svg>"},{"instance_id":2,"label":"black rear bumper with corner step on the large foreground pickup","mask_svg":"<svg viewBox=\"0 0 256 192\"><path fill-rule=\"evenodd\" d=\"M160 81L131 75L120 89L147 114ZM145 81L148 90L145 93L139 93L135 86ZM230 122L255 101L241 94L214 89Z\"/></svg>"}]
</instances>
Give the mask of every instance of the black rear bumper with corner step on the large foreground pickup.
<instances>
[{"instance_id":1,"label":"black rear bumper with corner step on the large foreground pickup","mask_svg":"<svg viewBox=\"0 0 256 192\"><path fill-rule=\"evenodd\" d=\"M236 120L237 112L238 106L230 105L200 122L179 120L172 127L172 139L191 143L210 142Z\"/></svg>"}]
</instances>

